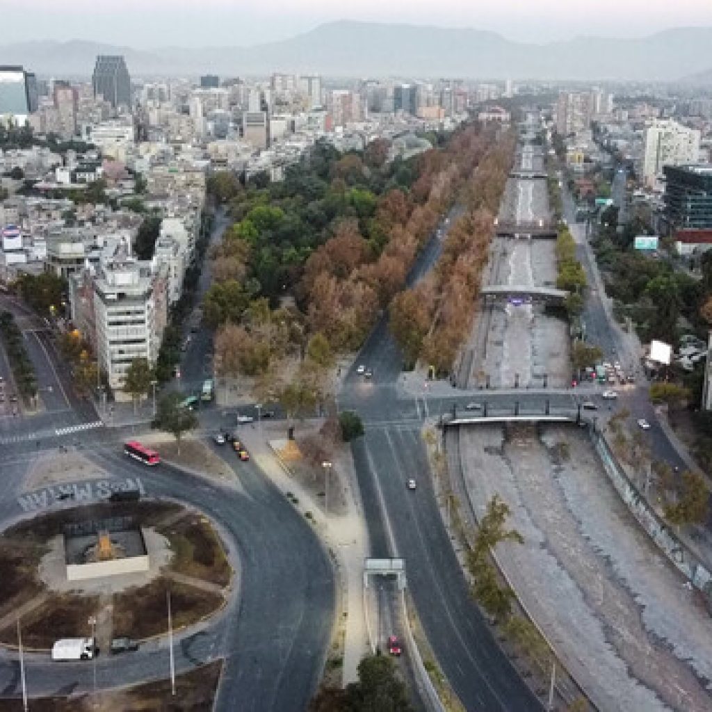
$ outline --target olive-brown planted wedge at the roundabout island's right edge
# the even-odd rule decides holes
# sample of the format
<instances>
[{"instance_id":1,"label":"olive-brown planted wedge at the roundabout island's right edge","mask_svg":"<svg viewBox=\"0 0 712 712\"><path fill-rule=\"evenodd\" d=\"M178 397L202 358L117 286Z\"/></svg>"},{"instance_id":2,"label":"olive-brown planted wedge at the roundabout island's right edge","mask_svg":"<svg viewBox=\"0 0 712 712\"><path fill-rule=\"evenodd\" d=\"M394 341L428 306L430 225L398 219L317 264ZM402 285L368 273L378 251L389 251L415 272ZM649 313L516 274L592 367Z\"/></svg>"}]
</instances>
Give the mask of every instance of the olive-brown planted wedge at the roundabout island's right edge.
<instances>
[{"instance_id":1,"label":"olive-brown planted wedge at the roundabout island's right edge","mask_svg":"<svg viewBox=\"0 0 712 712\"><path fill-rule=\"evenodd\" d=\"M197 513L158 529L169 540L173 552L172 571L226 586L231 566L220 538L209 520Z\"/></svg>"}]
</instances>

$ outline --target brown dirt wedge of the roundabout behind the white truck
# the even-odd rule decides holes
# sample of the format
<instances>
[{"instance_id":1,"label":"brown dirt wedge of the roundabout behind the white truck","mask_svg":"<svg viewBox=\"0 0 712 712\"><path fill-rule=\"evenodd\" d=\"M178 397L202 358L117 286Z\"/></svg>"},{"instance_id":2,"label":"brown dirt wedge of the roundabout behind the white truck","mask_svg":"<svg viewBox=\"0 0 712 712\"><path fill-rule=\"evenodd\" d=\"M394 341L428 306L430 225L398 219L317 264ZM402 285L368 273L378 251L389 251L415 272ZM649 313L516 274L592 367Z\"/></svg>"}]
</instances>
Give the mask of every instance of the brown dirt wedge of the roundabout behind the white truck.
<instances>
[{"instance_id":1,"label":"brown dirt wedge of the roundabout behind the white truck","mask_svg":"<svg viewBox=\"0 0 712 712\"><path fill-rule=\"evenodd\" d=\"M48 650L59 638L77 638L91 634L89 617L95 615L98 596L50 594L41 607L22 619L22 643L28 648ZM17 644L16 622L0 631L0 643Z\"/></svg>"}]
</instances>

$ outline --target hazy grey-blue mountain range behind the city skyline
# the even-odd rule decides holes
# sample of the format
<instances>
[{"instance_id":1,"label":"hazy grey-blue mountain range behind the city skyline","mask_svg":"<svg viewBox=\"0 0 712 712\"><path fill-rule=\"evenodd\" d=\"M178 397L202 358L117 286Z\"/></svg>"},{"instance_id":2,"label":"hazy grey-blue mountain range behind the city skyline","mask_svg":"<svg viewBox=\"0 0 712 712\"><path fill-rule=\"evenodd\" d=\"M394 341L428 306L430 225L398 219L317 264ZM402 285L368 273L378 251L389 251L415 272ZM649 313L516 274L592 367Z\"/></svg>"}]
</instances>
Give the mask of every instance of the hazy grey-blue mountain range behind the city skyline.
<instances>
[{"instance_id":1,"label":"hazy grey-blue mountain range behind the city skyline","mask_svg":"<svg viewBox=\"0 0 712 712\"><path fill-rule=\"evenodd\" d=\"M97 54L123 54L132 75L330 76L674 81L710 66L712 28L680 28L636 39L577 37L543 45L493 32L338 21L252 47L137 51L88 41L0 46L0 64L42 75L90 75Z\"/></svg>"}]
</instances>

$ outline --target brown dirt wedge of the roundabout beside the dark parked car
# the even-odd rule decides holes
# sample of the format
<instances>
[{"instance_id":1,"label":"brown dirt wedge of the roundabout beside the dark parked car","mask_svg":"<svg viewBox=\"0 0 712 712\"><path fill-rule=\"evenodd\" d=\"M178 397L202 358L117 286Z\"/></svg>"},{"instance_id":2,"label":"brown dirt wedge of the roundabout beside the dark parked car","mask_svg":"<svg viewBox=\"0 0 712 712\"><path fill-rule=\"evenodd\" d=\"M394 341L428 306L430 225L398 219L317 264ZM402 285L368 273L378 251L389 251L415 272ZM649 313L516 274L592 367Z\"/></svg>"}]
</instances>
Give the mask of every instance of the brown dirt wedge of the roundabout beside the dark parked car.
<instances>
[{"instance_id":1,"label":"brown dirt wedge of the roundabout beside the dark parked car","mask_svg":"<svg viewBox=\"0 0 712 712\"><path fill-rule=\"evenodd\" d=\"M221 607L223 597L160 577L140 588L114 596L114 635L135 639L167 632L167 591L171 592L173 627L182 628ZM140 601L140 605L137 605Z\"/></svg>"}]
</instances>

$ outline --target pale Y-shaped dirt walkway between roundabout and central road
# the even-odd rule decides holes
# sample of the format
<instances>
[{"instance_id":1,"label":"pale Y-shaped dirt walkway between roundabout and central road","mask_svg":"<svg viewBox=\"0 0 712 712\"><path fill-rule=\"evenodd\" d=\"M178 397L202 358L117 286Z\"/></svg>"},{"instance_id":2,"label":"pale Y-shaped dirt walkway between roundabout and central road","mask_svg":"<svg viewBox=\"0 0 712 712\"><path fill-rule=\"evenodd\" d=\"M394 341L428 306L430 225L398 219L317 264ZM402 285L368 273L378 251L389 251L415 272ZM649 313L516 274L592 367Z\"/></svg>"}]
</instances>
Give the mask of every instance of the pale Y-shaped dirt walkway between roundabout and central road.
<instances>
[{"instance_id":1,"label":"pale Y-shaped dirt walkway between roundabout and central road","mask_svg":"<svg viewBox=\"0 0 712 712\"><path fill-rule=\"evenodd\" d=\"M340 477L347 502L345 515L323 513L323 503L308 493L276 454L280 439L271 436L283 435L283 428L273 431L262 424L256 429L243 429L241 438L251 452L253 461L283 492L291 492L298 500L295 508L302 513L310 512L316 533L335 560L337 585L340 587L340 609L337 611L337 630L344 624L344 656L342 684L358 679L358 665L370 652L365 611L363 606L363 562L368 554L368 533L363 518L362 506L355 482L355 471L350 450L345 446L332 457L332 478ZM337 597L337 601L338 601Z\"/></svg>"}]
</instances>

